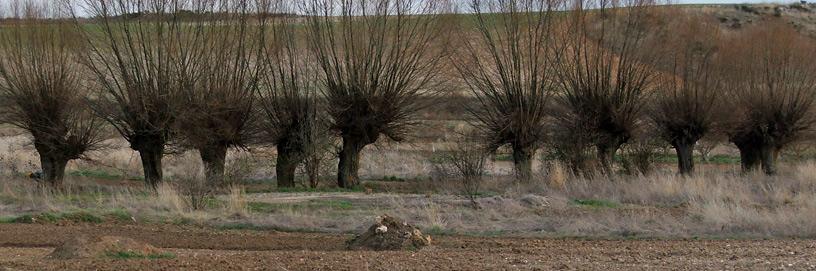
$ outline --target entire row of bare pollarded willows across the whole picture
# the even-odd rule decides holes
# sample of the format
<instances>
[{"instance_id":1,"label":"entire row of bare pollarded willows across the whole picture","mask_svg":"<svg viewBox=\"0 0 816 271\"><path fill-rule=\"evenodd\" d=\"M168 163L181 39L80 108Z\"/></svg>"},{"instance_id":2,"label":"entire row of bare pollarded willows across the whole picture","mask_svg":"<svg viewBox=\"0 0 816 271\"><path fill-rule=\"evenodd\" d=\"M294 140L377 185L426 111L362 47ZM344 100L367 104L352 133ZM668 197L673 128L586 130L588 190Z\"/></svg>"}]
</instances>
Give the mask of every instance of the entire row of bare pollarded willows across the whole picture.
<instances>
[{"instance_id":1,"label":"entire row of bare pollarded willows across the whole picture","mask_svg":"<svg viewBox=\"0 0 816 271\"><path fill-rule=\"evenodd\" d=\"M423 98L455 89L446 70L478 101L479 139L509 145L523 179L545 143L576 171L594 147L609 173L646 122L682 173L711 132L773 173L812 122L811 40L786 26L726 33L647 0L472 0L467 16L432 0L15 3L0 31L3 119L31 133L54 184L100 145L104 120L153 187L168 146L197 150L218 182L227 150L250 144L276 146L278 183L293 186L329 131L351 187L365 146L405 139ZM48 19L76 10L92 19Z\"/></svg>"}]
</instances>

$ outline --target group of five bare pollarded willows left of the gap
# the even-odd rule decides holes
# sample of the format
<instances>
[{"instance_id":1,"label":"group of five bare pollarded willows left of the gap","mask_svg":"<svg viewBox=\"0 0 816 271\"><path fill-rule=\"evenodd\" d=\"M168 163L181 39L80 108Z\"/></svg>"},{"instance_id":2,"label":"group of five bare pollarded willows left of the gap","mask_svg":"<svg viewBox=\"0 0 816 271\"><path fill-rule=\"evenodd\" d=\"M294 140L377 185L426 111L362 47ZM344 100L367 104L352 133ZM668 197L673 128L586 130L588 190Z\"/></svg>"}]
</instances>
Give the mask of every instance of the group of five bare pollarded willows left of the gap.
<instances>
[{"instance_id":1,"label":"group of five bare pollarded willows left of the gap","mask_svg":"<svg viewBox=\"0 0 816 271\"><path fill-rule=\"evenodd\" d=\"M362 149L403 140L420 98L440 93L444 5L13 1L0 31L3 120L31 133L55 185L68 161L99 148L104 121L154 188L168 147L198 151L218 183L228 149L250 144L276 146L278 184L294 186L332 131L343 141L338 184L352 187Z\"/></svg>"}]
</instances>

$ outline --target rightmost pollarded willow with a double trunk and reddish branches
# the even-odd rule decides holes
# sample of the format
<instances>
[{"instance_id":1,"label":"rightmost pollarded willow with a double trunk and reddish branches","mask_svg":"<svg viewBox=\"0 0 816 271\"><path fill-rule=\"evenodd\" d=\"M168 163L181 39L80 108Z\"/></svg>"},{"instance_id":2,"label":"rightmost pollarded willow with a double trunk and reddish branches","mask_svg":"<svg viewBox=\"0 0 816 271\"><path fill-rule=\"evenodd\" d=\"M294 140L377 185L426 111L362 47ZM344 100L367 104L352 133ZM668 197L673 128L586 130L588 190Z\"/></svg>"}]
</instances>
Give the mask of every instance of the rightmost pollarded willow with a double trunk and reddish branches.
<instances>
[{"instance_id":1,"label":"rightmost pollarded willow with a double trunk and reddish branches","mask_svg":"<svg viewBox=\"0 0 816 271\"><path fill-rule=\"evenodd\" d=\"M781 22L756 26L729 40L729 137L743 170L776 173L779 152L813 127L816 46Z\"/></svg>"}]
</instances>

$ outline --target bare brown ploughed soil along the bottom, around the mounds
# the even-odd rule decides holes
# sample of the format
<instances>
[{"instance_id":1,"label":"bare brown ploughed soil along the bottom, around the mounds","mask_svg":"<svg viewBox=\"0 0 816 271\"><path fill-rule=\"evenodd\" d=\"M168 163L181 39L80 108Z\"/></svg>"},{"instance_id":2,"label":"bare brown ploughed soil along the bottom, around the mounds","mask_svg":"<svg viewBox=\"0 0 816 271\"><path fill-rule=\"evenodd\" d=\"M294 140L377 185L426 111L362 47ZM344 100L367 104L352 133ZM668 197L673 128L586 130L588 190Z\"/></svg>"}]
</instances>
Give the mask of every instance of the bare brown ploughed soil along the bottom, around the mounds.
<instances>
[{"instance_id":1,"label":"bare brown ploughed soil along the bottom, around the mounds","mask_svg":"<svg viewBox=\"0 0 816 271\"><path fill-rule=\"evenodd\" d=\"M70 236L126 236L170 259L47 255ZM434 236L419 251L348 251L351 236L173 225L0 225L0 270L813 270L813 240L580 240Z\"/></svg>"}]
</instances>

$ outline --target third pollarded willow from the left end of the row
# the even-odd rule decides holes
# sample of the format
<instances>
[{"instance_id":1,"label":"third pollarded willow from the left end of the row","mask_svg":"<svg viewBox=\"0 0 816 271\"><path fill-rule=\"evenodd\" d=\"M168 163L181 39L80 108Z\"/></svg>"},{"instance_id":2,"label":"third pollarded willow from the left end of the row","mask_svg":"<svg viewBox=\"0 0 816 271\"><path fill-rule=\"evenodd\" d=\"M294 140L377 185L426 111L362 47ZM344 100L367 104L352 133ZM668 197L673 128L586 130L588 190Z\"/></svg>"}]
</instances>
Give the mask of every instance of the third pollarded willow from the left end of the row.
<instances>
[{"instance_id":1,"label":"third pollarded willow from the left end of the row","mask_svg":"<svg viewBox=\"0 0 816 271\"><path fill-rule=\"evenodd\" d=\"M198 0L186 6L178 48L176 135L198 151L208 184L224 181L227 151L245 147L254 134L250 125L263 65L256 6L249 0ZM179 10L181 11L181 10Z\"/></svg>"}]
</instances>

